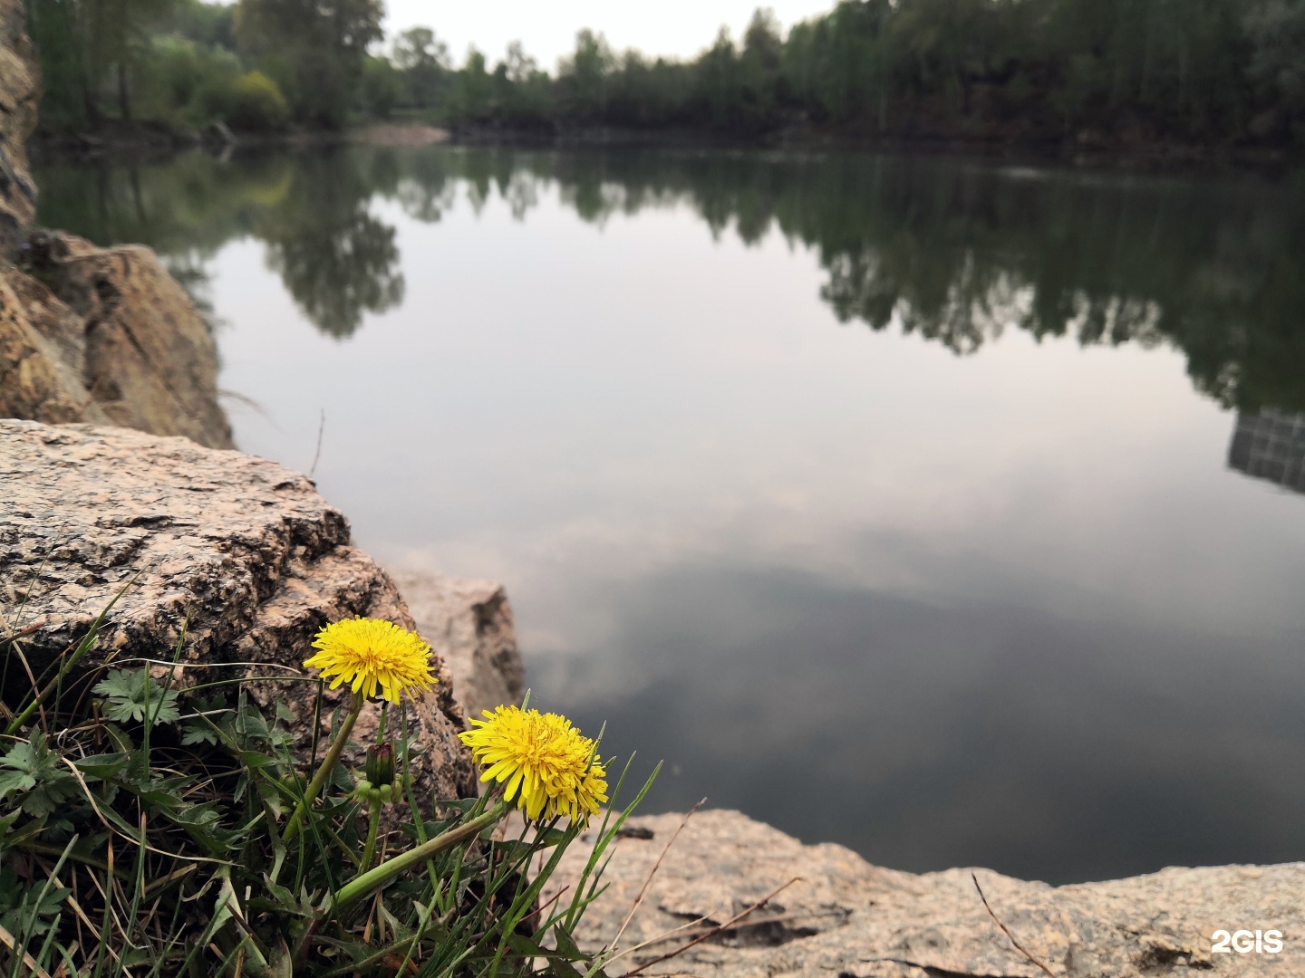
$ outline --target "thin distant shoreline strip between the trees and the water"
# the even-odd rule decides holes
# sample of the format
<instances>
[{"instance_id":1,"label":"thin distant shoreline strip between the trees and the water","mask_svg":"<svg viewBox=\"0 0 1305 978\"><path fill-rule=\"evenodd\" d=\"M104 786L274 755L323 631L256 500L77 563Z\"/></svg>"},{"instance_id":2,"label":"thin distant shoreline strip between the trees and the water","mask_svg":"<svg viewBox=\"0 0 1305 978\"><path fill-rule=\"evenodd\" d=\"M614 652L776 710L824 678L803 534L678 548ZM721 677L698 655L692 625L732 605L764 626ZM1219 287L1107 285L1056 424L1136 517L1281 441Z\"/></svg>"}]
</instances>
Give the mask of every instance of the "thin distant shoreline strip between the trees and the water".
<instances>
[{"instance_id":1,"label":"thin distant shoreline strip between the trees and the water","mask_svg":"<svg viewBox=\"0 0 1305 978\"><path fill-rule=\"evenodd\" d=\"M215 153L248 149L308 149L312 146L363 143L372 146L501 146L512 149L698 149L834 153L916 153L940 156L972 156L1044 166L1138 172L1181 171L1283 171L1305 163L1298 154L1262 146L1210 146L1198 143L1095 142L960 138L945 136L868 137L812 126L765 134L741 136L696 129L622 129L612 126L491 126L465 125L453 129L427 123L368 121L343 129L295 129L281 133L230 133L224 130L179 132L164 126L136 125L107 129L94 136L38 133L29 143L34 155L117 156L123 153L171 155L189 149Z\"/></svg>"}]
</instances>

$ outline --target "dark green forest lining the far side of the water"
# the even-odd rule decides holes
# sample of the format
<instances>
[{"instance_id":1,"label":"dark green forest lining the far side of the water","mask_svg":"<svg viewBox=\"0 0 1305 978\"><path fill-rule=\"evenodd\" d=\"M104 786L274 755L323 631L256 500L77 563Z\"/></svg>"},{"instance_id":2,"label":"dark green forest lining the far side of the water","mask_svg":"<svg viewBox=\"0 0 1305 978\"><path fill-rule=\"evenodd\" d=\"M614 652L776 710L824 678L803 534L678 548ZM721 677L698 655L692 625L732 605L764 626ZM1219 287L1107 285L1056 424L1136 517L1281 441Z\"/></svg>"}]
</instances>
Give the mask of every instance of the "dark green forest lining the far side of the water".
<instances>
[{"instance_id":1,"label":"dark green forest lining the far side of the water","mask_svg":"<svg viewBox=\"0 0 1305 978\"><path fill-rule=\"evenodd\" d=\"M381 0L29 0L48 134L589 129L743 140L1305 146L1305 0L842 0L760 9L696 59L582 30L547 70L519 43L455 63L382 30Z\"/></svg>"}]
</instances>

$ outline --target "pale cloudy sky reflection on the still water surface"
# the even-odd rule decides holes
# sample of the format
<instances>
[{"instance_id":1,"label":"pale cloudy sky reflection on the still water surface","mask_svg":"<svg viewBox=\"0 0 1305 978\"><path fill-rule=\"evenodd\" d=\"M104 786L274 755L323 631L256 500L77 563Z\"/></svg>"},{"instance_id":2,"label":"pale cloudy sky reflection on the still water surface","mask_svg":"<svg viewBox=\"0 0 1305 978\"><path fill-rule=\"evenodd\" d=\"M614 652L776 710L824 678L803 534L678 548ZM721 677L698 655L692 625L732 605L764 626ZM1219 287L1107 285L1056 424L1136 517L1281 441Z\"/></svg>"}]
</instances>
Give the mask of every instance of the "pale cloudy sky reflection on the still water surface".
<instances>
[{"instance_id":1,"label":"pale cloudy sky reflection on the still water surface","mask_svg":"<svg viewBox=\"0 0 1305 978\"><path fill-rule=\"evenodd\" d=\"M960 359L840 326L779 235L536 193L373 205L406 297L345 342L227 245L240 447L307 469L325 409L359 542L505 582L536 702L666 756L659 807L904 868L1301 857L1305 501L1225 471L1181 353Z\"/></svg>"}]
</instances>

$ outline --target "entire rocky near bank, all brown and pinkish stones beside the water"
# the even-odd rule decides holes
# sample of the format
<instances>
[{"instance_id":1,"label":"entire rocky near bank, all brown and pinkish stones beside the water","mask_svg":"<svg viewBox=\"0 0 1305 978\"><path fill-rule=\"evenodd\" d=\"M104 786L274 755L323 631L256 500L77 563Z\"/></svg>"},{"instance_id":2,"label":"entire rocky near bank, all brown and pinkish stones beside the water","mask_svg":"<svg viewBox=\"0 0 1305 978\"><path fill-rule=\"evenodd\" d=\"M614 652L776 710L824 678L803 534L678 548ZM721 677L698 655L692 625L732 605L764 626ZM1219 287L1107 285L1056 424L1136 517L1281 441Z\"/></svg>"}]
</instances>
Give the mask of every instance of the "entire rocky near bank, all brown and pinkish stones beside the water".
<instances>
[{"instance_id":1,"label":"entire rocky near bank, all brown and pinkish stones beside the water","mask_svg":"<svg viewBox=\"0 0 1305 978\"><path fill-rule=\"evenodd\" d=\"M209 325L155 256L33 227L25 142L39 80L21 4L0 0L0 608L33 666L119 592L84 668L171 657L185 622L181 685L214 668L298 669L325 623L385 618L431 643L440 679L410 717L424 747L414 776L427 797L472 794L455 734L527 685L504 589L380 566L311 479L234 449ZM270 703L275 691L253 695ZM287 707L307 743L311 704L291 694ZM776 772L775 790L792 773ZM881 868L741 812L681 823L629 823L581 935L598 947L624 926L626 943L645 944L630 966L650 974L1305 975L1305 863L1049 887L988 870ZM551 892L581 868L565 862ZM662 935L718 925L656 962L675 944ZM1215 938L1270 928L1285 935L1276 953Z\"/></svg>"}]
</instances>

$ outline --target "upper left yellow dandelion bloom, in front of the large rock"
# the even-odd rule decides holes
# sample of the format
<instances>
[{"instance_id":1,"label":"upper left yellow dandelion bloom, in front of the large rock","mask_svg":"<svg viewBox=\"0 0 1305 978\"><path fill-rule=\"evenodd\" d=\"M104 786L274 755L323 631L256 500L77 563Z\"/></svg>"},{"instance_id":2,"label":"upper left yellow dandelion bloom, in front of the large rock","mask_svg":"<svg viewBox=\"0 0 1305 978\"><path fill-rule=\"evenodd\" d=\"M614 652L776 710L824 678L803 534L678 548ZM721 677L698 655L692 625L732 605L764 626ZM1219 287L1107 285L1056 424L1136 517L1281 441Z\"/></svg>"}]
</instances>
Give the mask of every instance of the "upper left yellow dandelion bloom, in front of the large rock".
<instances>
[{"instance_id":1,"label":"upper left yellow dandelion bloom, in front of the large rock","mask_svg":"<svg viewBox=\"0 0 1305 978\"><path fill-rule=\"evenodd\" d=\"M348 683L371 699L380 686L384 699L398 703L399 694L428 690L436 682L431 647L394 622L346 618L317 632L313 648L317 655L304 665L321 669L326 679L335 677L333 690Z\"/></svg>"}]
</instances>

